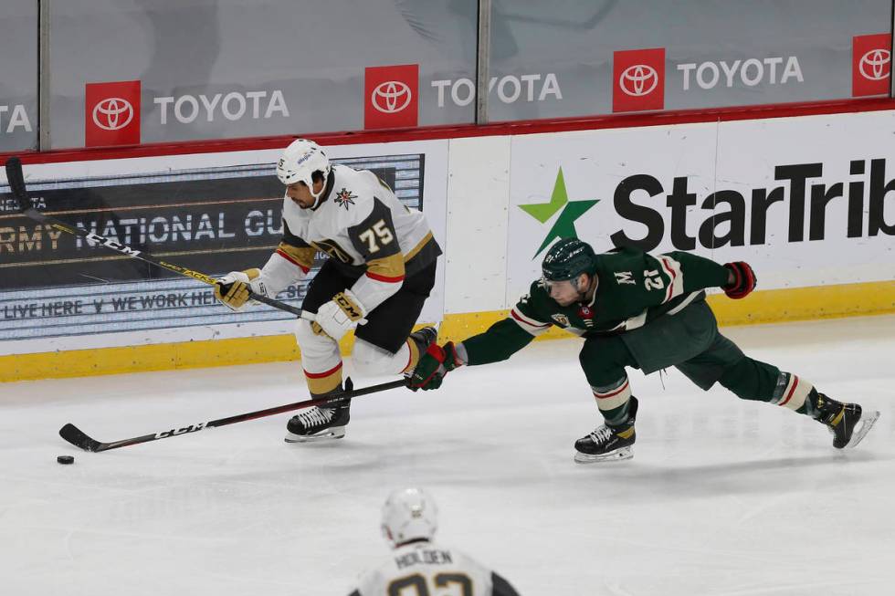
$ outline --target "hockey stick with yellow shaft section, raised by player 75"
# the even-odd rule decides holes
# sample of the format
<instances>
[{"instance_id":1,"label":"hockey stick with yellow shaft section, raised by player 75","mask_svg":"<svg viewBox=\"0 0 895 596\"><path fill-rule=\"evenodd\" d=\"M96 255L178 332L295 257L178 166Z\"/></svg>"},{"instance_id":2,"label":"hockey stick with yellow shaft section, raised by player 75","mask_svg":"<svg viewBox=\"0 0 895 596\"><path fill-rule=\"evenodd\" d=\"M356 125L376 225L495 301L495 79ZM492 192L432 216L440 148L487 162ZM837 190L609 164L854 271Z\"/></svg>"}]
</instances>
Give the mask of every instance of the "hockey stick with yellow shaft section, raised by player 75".
<instances>
[{"instance_id":1,"label":"hockey stick with yellow shaft section, raised by player 75","mask_svg":"<svg viewBox=\"0 0 895 596\"><path fill-rule=\"evenodd\" d=\"M71 235L78 235L82 238L87 238L90 242L96 242L102 246L105 246L106 248L110 248L111 250L119 252L122 255L138 258L141 261L145 261L146 263L150 263L156 267L168 269L169 271L174 271L174 273L178 273L185 277L193 277L194 279L198 279L202 283L208 284L209 286L216 286L218 284L217 280L214 277L206 276L204 273L194 271L193 269L187 269L186 267L180 267L179 265L174 265L174 263L168 263L167 261L163 261L157 256L150 255L149 253L145 253L142 250L134 250L130 246L122 245L120 242L115 242L114 240L112 240L111 238L107 238L106 236L101 236L99 234L94 234L93 232L82 230L79 227L75 227L74 225L68 225L62 220L53 217L52 215L40 213L34 207L29 206L26 208L25 205L29 205L31 204L31 202L28 200L25 187L25 176L22 174L22 162L17 157L10 157L8 160L6 160L6 180L9 182L9 189L12 191L13 195L16 197L16 200L18 201L19 213L25 215L29 219L33 219L34 221L40 222L41 224L49 225L50 227L55 227L61 232L68 232L68 234ZM286 304L285 302L280 302L276 298L268 298L267 296L256 294L251 290L248 290L248 298L257 300L258 302L263 302L269 307L285 310L286 312L290 312L297 317L313 320L313 315L311 313L302 314L301 308L296 308L289 304Z\"/></svg>"}]
</instances>

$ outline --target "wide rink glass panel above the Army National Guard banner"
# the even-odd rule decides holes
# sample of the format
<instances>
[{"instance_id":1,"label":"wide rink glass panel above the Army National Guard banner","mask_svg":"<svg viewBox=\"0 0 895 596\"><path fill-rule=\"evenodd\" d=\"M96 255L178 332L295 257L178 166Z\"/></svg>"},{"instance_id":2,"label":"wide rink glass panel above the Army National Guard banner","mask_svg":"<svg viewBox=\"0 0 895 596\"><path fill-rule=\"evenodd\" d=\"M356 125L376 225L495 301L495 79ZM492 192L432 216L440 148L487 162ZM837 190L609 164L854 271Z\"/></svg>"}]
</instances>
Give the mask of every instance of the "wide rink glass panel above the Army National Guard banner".
<instances>
[{"instance_id":1,"label":"wide rink glass panel above the Army National Guard banner","mask_svg":"<svg viewBox=\"0 0 895 596\"><path fill-rule=\"evenodd\" d=\"M365 68L418 64L420 125L471 123L431 80L475 80L475 0L67 0L51 6L52 145L85 84L141 81L142 142L364 128ZM2 42L0 42L2 43Z\"/></svg>"}]
</instances>

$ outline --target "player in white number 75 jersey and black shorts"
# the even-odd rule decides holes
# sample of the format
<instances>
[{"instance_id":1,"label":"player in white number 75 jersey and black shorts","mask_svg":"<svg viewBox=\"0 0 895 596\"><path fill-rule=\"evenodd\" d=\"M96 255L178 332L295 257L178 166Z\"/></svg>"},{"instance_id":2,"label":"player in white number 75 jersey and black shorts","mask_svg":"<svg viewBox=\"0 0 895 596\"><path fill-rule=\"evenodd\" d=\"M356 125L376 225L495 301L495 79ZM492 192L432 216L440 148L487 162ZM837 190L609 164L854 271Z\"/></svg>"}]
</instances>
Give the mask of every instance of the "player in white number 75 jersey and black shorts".
<instances>
[{"instance_id":1,"label":"player in white number 75 jersey and black shorts","mask_svg":"<svg viewBox=\"0 0 895 596\"><path fill-rule=\"evenodd\" d=\"M372 172L331 165L313 142L293 141L277 165L286 185L283 237L261 269L222 277L215 296L238 310L247 288L276 298L311 270L318 250L330 258L311 280L295 329L301 365L314 398L342 390L339 340L355 329L358 374L412 371L422 351L436 340L433 328L411 334L435 285L441 249L426 218L408 209ZM360 327L358 327L360 325ZM288 443L341 438L351 403L313 407L287 424Z\"/></svg>"}]
</instances>

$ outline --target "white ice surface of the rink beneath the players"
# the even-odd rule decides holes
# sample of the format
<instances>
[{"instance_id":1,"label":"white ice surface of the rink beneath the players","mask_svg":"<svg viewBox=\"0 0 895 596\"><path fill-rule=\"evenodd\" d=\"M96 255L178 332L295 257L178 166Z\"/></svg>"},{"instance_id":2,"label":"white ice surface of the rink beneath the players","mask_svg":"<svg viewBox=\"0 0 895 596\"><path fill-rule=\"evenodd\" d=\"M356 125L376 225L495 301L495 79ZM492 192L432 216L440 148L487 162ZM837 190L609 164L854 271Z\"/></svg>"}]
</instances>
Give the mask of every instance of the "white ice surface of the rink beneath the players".
<instances>
[{"instance_id":1,"label":"white ice surface of the rink beneath the players","mask_svg":"<svg viewBox=\"0 0 895 596\"><path fill-rule=\"evenodd\" d=\"M0 384L0 592L345 595L388 553L384 497L413 485L437 500L439 541L523 596L895 592L895 317L724 332L879 423L838 452L805 416L633 371L634 459L575 465L599 422L580 340L461 369L437 392L358 398L332 444L284 444L290 414L100 454L57 435L72 422L113 441L298 402L294 362ZM56 463L66 454L74 465Z\"/></svg>"}]
</instances>

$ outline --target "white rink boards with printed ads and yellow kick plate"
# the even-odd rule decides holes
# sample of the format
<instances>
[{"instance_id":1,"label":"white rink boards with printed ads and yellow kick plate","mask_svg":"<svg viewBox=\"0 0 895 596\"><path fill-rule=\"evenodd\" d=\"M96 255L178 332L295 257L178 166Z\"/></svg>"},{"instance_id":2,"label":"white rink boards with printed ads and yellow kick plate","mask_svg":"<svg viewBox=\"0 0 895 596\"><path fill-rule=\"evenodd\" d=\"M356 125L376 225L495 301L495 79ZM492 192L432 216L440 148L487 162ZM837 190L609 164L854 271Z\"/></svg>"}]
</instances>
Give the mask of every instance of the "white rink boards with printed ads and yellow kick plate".
<instances>
[{"instance_id":1,"label":"white rink boards with printed ads and yellow kick plate","mask_svg":"<svg viewBox=\"0 0 895 596\"><path fill-rule=\"evenodd\" d=\"M504 317L547 247L573 234L597 250L748 261L760 291L712 295L721 325L895 312L895 110L777 115L346 136L330 153L426 214L445 254L421 322L442 320L441 340ZM39 210L221 275L260 267L277 245L273 167L288 142L41 154L26 158L26 183ZM15 208L0 196L0 381L300 358L290 316L232 313L195 280ZM300 306L308 281L279 298Z\"/></svg>"}]
</instances>

